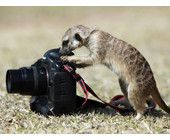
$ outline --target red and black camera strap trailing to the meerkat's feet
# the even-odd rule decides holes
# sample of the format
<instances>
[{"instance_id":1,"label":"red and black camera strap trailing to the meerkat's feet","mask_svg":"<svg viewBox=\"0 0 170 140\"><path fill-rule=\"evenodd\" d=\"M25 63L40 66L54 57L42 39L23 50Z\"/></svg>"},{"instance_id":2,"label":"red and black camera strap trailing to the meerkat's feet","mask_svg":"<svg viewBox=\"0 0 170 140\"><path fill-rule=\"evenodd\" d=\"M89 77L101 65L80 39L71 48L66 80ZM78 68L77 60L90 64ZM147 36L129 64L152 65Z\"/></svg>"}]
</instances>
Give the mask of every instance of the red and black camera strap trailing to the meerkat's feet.
<instances>
[{"instance_id":1,"label":"red and black camera strap trailing to the meerkat's feet","mask_svg":"<svg viewBox=\"0 0 170 140\"><path fill-rule=\"evenodd\" d=\"M96 97L98 100L102 101L104 104L106 104L107 106L115 109L116 111L119 111L119 112L125 112L125 111L132 111L133 109L131 108L122 108L122 107L118 107L116 105L112 105L110 103L107 103L105 102L104 100L102 100L101 98L99 98L96 93L85 83L84 79L75 72L75 70L69 66L68 64L66 65L63 65L64 69L66 71L68 71L74 78L75 80L79 83L80 87L82 88L86 98L85 98L85 101L82 105L84 105L87 100L88 100L88 92L91 93L94 97ZM123 96L123 95L122 95ZM116 97L116 96L115 96ZM117 100L116 98L112 98L112 101L113 100ZM149 107L146 108L146 110L151 110L151 109L154 109L156 107L156 102L153 100L153 99L150 99L150 104L149 104Z\"/></svg>"}]
</instances>

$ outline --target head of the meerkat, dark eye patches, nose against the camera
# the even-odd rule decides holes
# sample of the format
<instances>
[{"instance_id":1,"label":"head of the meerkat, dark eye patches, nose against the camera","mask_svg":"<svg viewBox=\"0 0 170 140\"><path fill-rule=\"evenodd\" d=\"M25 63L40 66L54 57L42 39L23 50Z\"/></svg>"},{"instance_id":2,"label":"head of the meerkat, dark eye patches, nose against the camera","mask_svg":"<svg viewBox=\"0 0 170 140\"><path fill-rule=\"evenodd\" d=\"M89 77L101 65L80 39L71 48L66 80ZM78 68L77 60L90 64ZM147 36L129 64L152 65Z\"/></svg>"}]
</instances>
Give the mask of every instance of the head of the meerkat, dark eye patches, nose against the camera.
<instances>
[{"instance_id":1,"label":"head of the meerkat, dark eye patches, nose against the camera","mask_svg":"<svg viewBox=\"0 0 170 140\"><path fill-rule=\"evenodd\" d=\"M85 45L87 38L95 28L85 27L83 25L73 26L68 29L62 38L61 55L67 55L71 51Z\"/></svg>"}]
</instances>

